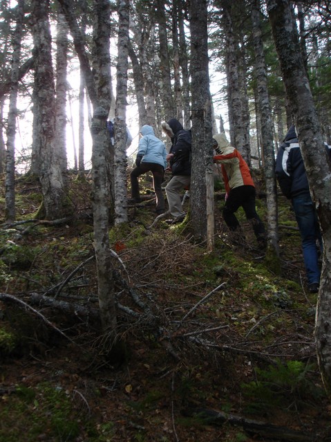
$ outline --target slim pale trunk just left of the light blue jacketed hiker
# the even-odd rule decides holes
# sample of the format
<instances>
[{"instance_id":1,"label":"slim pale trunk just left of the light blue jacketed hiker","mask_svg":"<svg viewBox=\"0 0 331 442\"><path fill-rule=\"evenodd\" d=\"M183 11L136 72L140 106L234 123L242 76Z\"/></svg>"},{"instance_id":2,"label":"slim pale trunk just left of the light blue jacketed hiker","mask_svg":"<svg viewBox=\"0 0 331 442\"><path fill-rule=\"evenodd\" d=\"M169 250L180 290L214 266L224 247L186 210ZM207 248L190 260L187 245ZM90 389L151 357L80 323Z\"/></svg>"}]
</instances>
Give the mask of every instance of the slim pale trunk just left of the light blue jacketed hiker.
<instances>
[{"instance_id":1,"label":"slim pale trunk just left of the light blue jacketed hiker","mask_svg":"<svg viewBox=\"0 0 331 442\"><path fill-rule=\"evenodd\" d=\"M126 198L126 93L128 83L129 0L117 0L118 42L115 106L115 224L128 221Z\"/></svg>"}]
</instances>

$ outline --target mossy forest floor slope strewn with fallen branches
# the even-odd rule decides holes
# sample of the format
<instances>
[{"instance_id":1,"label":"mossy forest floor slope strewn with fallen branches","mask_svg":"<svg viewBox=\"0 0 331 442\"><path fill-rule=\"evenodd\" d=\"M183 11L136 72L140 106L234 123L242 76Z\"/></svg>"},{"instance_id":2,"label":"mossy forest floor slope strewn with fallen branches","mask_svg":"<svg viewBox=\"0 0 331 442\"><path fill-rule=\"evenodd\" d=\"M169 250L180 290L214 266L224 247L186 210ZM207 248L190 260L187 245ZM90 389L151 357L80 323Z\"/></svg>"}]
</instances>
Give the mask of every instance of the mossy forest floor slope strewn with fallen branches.
<instances>
[{"instance_id":1,"label":"mossy forest floor slope strewn with fallen branches","mask_svg":"<svg viewBox=\"0 0 331 442\"><path fill-rule=\"evenodd\" d=\"M4 177L0 219L4 219ZM151 183L146 182L146 187ZM316 294L279 198L281 260L229 236L215 247L155 219L153 195L110 229L118 342L100 334L91 183L70 181L74 219L34 219L39 184L17 180L0 230L0 442L331 441L314 348ZM263 192L257 200L265 219Z\"/></svg>"}]
</instances>

